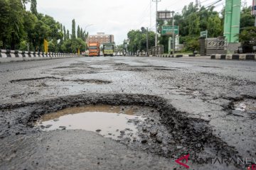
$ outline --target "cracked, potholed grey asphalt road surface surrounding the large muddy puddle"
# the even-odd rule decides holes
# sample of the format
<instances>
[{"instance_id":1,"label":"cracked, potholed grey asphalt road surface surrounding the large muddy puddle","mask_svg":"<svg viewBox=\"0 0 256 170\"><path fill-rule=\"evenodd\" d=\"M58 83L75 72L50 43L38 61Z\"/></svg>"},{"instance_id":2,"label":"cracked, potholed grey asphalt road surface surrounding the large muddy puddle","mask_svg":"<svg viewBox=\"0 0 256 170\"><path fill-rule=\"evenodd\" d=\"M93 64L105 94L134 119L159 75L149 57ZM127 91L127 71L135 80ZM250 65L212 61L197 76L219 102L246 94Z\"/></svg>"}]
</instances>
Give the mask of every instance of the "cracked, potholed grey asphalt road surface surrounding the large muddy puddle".
<instances>
[{"instance_id":1,"label":"cracked, potholed grey asphalt road surface surrounding the large muddy puddle","mask_svg":"<svg viewBox=\"0 0 256 170\"><path fill-rule=\"evenodd\" d=\"M187 154L190 169L245 169L256 160L255 62L76 57L0 64L0 72L0 169L186 169L174 161ZM136 140L33 124L102 104L144 110L144 121L130 120Z\"/></svg>"}]
</instances>

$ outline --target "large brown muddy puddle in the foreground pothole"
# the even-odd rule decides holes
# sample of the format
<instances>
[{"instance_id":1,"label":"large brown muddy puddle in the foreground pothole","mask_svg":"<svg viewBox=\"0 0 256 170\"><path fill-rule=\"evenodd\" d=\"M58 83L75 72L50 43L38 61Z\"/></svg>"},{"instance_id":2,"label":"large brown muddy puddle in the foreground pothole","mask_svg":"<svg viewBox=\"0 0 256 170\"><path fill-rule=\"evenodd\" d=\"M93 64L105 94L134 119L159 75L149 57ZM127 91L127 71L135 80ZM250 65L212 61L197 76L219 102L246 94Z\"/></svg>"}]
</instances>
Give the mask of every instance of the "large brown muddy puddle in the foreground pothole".
<instances>
[{"instance_id":1,"label":"large brown muddy puddle in the foreground pothole","mask_svg":"<svg viewBox=\"0 0 256 170\"><path fill-rule=\"evenodd\" d=\"M35 123L43 131L88 130L114 140L137 140L137 124L146 118L137 106L82 106L48 113Z\"/></svg>"}]
</instances>

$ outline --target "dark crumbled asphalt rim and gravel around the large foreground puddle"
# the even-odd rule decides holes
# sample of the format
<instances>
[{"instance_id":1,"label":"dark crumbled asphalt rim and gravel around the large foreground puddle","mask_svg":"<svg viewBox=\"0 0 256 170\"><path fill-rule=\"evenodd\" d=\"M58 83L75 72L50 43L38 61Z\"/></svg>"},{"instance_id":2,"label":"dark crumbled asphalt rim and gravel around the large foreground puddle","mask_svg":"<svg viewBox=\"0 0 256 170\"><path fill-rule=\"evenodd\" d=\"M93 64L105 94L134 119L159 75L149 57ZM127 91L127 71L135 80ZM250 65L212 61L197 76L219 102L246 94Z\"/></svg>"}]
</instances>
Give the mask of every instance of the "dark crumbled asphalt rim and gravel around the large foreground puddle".
<instances>
[{"instance_id":1,"label":"dark crumbled asphalt rim and gravel around the large foreground puddle","mask_svg":"<svg viewBox=\"0 0 256 170\"><path fill-rule=\"evenodd\" d=\"M99 109L99 106L102 104L107 105L104 106L104 110ZM121 114L129 116L129 113L130 115L137 116L138 118L127 118L125 122L125 125L128 123L134 125L137 131L130 131L126 127L120 128L117 139L118 142L127 145L131 149L143 150L144 152L157 154L166 158L178 158L181 153L189 153L191 154L191 159L193 159L196 154L205 154L204 150L219 156L235 155L235 149L229 147L219 137L216 137L213 134L213 130L208 127L207 121L187 118L186 113L176 111L173 106L158 96L138 94L80 94L78 96L42 100L37 103L21 103L15 106L0 105L1 111L4 111L2 115L6 117L6 120L9 120L8 122L0 123L0 138L12 134L23 135L36 132L39 128L43 128L39 127L40 125L33 128L34 123L40 120L42 115L50 115L51 112L58 112L63 110L63 108L75 106L97 107L96 111L104 112L105 115L107 113L113 115L115 113L115 108L113 107L116 106L119 112L117 113L119 115L116 117ZM106 109L106 107L109 109ZM106 110L110 110L110 112ZM95 112L95 110L90 111ZM76 114L84 112L83 110ZM73 116L76 114L73 112ZM102 115L104 116L102 119L105 118L105 115ZM56 122L60 122L60 116ZM143 119L139 120L139 118ZM50 118L50 120L53 119L55 118ZM110 122L108 120L105 121ZM47 125L47 128L44 125L44 129L53 126L53 124ZM58 128L60 126L58 125ZM61 127L60 129L68 129L68 126ZM97 128L96 130L100 132L103 129ZM133 135L129 134L131 132L136 136L131 136ZM48 133L50 134L51 132ZM121 135L121 133L125 135ZM107 135L109 134L107 133Z\"/></svg>"}]
</instances>

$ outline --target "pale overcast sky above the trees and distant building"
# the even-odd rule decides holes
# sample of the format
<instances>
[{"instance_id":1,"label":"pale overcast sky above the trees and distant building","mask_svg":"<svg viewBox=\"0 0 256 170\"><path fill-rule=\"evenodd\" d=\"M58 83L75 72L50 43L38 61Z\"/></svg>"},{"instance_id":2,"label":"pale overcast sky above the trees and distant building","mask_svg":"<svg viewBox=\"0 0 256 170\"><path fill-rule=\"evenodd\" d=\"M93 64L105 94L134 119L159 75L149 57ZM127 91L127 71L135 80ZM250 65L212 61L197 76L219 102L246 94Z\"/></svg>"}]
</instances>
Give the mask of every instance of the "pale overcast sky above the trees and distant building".
<instances>
[{"instance_id":1,"label":"pale overcast sky above the trees and distant building","mask_svg":"<svg viewBox=\"0 0 256 170\"><path fill-rule=\"evenodd\" d=\"M154 0L155 1L155 0ZM155 30L156 2L151 0L37 0L38 12L53 16L66 29L72 28L75 18L89 35L105 33L114 35L117 45L127 39L132 29L147 27ZM158 11L181 13L183 6L196 0L158 0ZM198 0L201 6L209 6L218 0ZM242 0L242 5L250 6L252 0ZM225 0L215 4L217 11L225 5ZM29 8L29 7L28 7Z\"/></svg>"}]
</instances>

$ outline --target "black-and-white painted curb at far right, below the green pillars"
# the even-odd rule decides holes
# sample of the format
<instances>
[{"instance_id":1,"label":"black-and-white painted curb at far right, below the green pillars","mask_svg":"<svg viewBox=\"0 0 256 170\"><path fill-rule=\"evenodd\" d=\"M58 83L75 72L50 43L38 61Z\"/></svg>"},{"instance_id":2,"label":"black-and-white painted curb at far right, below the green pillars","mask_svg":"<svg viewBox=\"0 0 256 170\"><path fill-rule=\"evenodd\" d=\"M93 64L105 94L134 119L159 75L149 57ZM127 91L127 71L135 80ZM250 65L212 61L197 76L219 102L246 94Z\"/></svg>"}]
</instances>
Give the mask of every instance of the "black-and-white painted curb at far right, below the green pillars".
<instances>
[{"instance_id":1,"label":"black-and-white painted curb at far right, below the green pillars","mask_svg":"<svg viewBox=\"0 0 256 170\"><path fill-rule=\"evenodd\" d=\"M210 55L210 59L215 60L256 60L255 54L247 55Z\"/></svg>"}]
</instances>

